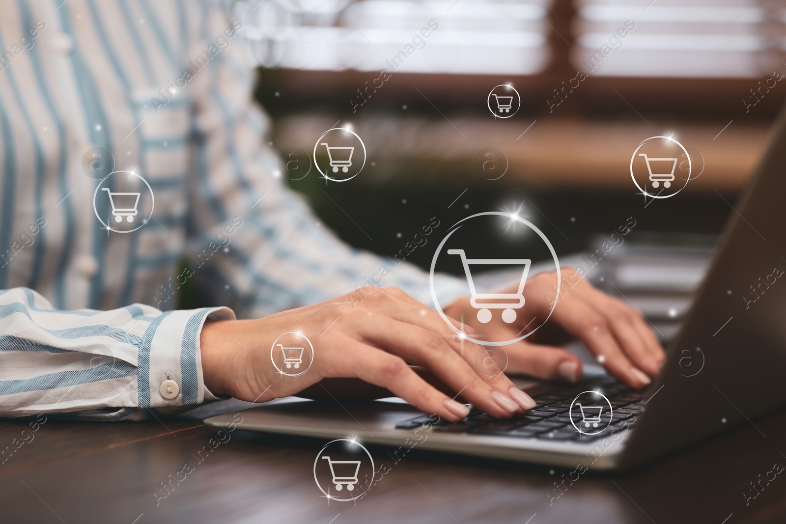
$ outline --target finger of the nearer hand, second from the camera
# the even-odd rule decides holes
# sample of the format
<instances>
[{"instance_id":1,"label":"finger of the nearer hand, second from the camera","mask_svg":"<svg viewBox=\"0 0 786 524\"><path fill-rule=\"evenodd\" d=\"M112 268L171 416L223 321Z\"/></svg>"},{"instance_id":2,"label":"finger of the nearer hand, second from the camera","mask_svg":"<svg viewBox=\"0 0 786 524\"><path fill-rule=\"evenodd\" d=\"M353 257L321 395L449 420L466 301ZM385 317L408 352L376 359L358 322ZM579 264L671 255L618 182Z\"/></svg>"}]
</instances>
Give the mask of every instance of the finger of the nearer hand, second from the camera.
<instances>
[{"instance_id":1,"label":"finger of the nearer hand, second from the camera","mask_svg":"<svg viewBox=\"0 0 786 524\"><path fill-rule=\"evenodd\" d=\"M365 342L428 368L452 390L460 391L463 398L492 416L511 416L534 407L531 399L524 408L512 397L519 396L511 391L518 388L506 376L494 377L498 380L489 383L435 332L382 316L377 316L373 324L358 325L357 329Z\"/></svg>"}]
</instances>

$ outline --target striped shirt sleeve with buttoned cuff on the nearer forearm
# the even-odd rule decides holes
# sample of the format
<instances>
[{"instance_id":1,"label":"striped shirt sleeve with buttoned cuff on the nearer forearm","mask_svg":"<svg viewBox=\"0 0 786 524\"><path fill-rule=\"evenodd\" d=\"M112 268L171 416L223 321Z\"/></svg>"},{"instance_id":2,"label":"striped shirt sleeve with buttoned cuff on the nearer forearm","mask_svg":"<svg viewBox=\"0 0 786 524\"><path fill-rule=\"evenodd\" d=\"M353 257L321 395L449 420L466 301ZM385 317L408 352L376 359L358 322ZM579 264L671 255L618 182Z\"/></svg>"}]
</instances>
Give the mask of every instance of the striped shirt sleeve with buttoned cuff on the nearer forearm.
<instances>
[{"instance_id":1,"label":"striped shirt sleeve with buttoned cuff on the nearer forearm","mask_svg":"<svg viewBox=\"0 0 786 524\"><path fill-rule=\"evenodd\" d=\"M204 321L222 307L162 312L54 310L28 288L0 290L0 416L145 418L145 409L199 404Z\"/></svg>"}]
</instances>

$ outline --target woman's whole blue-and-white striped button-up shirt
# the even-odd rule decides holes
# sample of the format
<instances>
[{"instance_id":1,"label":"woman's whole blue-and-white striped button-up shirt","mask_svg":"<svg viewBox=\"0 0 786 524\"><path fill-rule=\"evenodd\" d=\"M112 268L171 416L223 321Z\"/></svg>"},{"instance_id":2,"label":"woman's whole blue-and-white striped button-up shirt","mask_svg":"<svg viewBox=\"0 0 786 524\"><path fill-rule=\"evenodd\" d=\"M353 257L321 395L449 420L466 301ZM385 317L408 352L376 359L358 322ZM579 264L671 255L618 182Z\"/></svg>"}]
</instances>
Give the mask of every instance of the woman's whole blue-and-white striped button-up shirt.
<instances>
[{"instance_id":1,"label":"woman's whole blue-and-white striped button-up shirt","mask_svg":"<svg viewBox=\"0 0 786 524\"><path fill-rule=\"evenodd\" d=\"M127 420L215 398L200 364L208 318L369 282L429 302L428 273L345 246L286 189L240 25L212 2L2 0L0 416ZM143 227L99 220L92 148L149 184ZM215 307L173 310L185 280Z\"/></svg>"}]
</instances>

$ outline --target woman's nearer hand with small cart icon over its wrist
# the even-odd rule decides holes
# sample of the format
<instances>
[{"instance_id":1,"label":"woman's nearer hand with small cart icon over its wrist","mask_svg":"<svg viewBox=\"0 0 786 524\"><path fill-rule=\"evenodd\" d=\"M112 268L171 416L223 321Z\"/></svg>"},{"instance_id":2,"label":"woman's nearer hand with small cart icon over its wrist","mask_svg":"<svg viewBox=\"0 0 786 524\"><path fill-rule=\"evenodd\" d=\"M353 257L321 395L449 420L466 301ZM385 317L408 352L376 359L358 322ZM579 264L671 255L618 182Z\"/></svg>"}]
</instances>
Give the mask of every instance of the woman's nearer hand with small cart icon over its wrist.
<instances>
[{"instance_id":1,"label":"woman's nearer hand with small cart icon over its wrist","mask_svg":"<svg viewBox=\"0 0 786 524\"><path fill-rule=\"evenodd\" d=\"M478 336L456 324L466 335ZM270 360L270 346L286 332L300 332L314 346L314 361L300 376L278 372ZM508 417L535 405L501 372L490 376L476 368L481 346L397 288L361 288L259 320L211 321L202 329L200 350L208 389L245 401L297 394L328 377L354 377L387 388L424 412L464 418L465 405L410 368L417 365L490 415Z\"/></svg>"}]
</instances>

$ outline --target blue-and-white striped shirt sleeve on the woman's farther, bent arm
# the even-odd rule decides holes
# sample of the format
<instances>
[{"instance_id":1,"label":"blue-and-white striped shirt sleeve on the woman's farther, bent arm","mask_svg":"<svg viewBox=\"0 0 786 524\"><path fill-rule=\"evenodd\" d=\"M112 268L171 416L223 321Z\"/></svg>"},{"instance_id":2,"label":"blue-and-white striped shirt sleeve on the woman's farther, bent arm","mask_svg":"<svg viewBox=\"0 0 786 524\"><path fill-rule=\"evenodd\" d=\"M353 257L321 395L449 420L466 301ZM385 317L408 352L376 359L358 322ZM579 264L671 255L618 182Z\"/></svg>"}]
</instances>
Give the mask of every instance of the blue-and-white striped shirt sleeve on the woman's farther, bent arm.
<instances>
[{"instance_id":1,"label":"blue-and-white striped shirt sleeve on the woman's farther, bent arm","mask_svg":"<svg viewBox=\"0 0 786 524\"><path fill-rule=\"evenodd\" d=\"M207 64L200 60L193 71L197 150L190 193L193 242L186 271L208 294L208 303L229 305L245 317L262 317L364 285L381 285L402 288L432 305L428 273L399 258L343 244L303 197L286 187L269 119L252 101L244 43L233 31L239 23L230 26L226 13L218 10L207 20L190 50L196 57L212 46L216 53ZM226 35L230 46L217 48L216 35ZM432 219L431 227L433 223L439 226L439 218ZM443 304L467 288L466 282L441 274L435 275L434 284Z\"/></svg>"}]
</instances>

